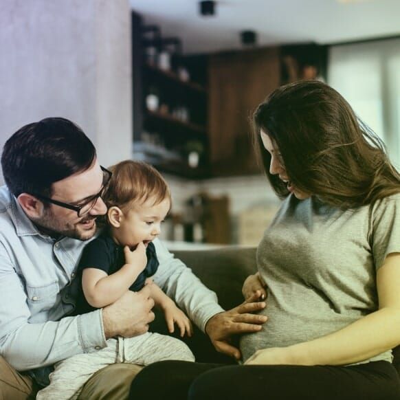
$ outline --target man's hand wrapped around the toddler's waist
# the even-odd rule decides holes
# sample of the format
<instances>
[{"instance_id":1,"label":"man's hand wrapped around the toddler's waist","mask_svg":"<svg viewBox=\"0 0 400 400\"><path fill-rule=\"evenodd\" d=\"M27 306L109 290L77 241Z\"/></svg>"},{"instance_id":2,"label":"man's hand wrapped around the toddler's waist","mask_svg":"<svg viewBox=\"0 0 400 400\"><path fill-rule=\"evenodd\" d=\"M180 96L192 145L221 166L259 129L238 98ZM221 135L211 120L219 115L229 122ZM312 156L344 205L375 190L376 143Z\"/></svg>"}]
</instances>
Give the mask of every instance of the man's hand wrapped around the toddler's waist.
<instances>
[{"instance_id":1,"label":"man's hand wrapped around the toddler's waist","mask_svg":"<svg viewBox=\"0 0 400 400\"><path fill-rule=\"evenodd\" d=\"M146 333L148 324L154 320L153 306L148 286L138 292L126 291L116 302L102 309L104 335L109 339Z\"/></svg>"}]
</instances>

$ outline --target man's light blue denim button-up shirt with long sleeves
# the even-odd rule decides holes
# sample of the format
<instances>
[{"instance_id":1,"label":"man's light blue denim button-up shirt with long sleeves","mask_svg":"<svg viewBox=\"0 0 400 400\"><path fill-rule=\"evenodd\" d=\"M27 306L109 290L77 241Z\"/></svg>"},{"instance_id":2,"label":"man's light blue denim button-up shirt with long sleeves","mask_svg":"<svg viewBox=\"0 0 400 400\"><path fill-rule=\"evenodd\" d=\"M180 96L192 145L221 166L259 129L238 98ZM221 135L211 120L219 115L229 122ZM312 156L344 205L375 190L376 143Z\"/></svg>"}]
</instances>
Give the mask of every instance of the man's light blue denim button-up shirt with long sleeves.
<instances>
[{"instance_id":1,"label":"man's light blue denim button-up shirt with long sleeves","mask_svg":"<svg viewBox=\"0 0 400 400\"><path fill-rule=\"evenodd\" d=\"M67 289L86 243L41 234L8 188L0 187L0 354L17 370L107 345L100 309L64 317L73 309ZM215 293L160 241L154 244L155 283L204 330L208 319L223 311Z\"/></svg>"}]
</instances>

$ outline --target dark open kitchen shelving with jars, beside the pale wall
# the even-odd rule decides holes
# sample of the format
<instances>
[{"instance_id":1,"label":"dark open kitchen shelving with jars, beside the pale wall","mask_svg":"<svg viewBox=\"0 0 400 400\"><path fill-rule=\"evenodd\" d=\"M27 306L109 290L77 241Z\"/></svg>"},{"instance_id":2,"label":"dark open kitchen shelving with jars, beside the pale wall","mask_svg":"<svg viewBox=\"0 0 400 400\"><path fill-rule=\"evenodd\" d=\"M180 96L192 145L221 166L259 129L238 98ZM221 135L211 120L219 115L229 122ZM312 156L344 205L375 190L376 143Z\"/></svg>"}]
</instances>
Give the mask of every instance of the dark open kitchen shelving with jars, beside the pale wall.
<instances>
[{"instance_id":1,"label":"dark open kitchen shelving with jars, beside the pale wall","mask_svg":"<svg viewBox=\"0 0 400 400\"><path fill-rule=\"evenodd\" d=\"M179 38L162 38L157 27L150 27L157 38L153 41L144 38L143 32L149 29L138 14L133 13L132 22L133 157L144 159L162 172L190 179L208 177L206 64L193 63L181 54L170 52L168 44L179 43ZM157 49L157 54L170 52L170 69L160 68L157 55L148 61L148 46ZM182 68L186 69L187 78L179 74ZM146 102L149 95L157 98L151 109ZM135 148L140 150L135 153ZM157 151L151 152L151 148ZM189 166L191 151L199 152L197 166ZM168 157L171 154L174 157Z\"/></svg>"}]
</instances>

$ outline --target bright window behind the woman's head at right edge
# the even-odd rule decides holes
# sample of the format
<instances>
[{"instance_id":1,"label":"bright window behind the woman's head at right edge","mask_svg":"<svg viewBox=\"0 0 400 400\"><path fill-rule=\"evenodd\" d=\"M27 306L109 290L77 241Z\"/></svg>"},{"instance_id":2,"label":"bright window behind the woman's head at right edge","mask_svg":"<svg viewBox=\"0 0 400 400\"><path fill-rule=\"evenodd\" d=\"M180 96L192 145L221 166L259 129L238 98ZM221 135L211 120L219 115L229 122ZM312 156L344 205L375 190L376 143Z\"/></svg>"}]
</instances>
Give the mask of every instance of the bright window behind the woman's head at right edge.
<instances>
[{"instance_id":1,"label":"bright window behind the woman's head at right edge","mask_svg":"<svg viewBox=\"0 0 400 400\"><path fill-rule=\"evenodd\" d=\"M388 147L400 167L400 39L336 45L329 49L329 85Z\"/></svg>"}]
</instances>

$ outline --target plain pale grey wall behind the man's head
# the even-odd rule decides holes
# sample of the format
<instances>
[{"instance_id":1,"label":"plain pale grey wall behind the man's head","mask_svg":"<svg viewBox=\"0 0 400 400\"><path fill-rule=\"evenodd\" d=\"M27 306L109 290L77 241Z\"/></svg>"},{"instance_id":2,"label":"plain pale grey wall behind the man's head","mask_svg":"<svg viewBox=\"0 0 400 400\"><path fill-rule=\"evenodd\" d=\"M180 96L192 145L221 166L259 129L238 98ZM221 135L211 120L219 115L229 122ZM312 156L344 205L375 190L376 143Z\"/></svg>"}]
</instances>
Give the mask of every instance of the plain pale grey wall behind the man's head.
<instances>
[{"instance_id":1,"label":"plain pale grey wall behind the man's head","mask_svg":"<svg viewBox=\"0 0 400 400\"><path fill-rule=\"evenodd\" d=\"M62 116L87 133L102 164L130 157L127 0L1 0L0 52L1 148L24 124Z\"/></svg>"}]
</instances>

